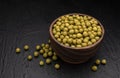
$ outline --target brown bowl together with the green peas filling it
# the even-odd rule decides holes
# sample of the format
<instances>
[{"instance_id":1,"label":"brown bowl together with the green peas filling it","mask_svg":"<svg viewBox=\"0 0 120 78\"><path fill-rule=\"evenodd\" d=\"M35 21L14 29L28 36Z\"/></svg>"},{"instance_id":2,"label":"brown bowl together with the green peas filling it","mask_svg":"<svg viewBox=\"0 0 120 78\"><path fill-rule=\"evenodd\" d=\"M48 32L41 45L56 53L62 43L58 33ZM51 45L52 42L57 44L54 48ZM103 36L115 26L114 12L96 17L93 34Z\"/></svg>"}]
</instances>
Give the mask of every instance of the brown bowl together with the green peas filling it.
<instances>
[{"instance_id":1,"label":"brown bowl together with the green peas filling it","mask_svg":"<svg viewBox=\"0 0 120 78\"><path fill-rule=\"evenodd\" d=\"M55 19L49 28L51 47L65 62L84 63L97 52L104 27L96 18L71 13Z\"/></svg>"}]
</instances>

